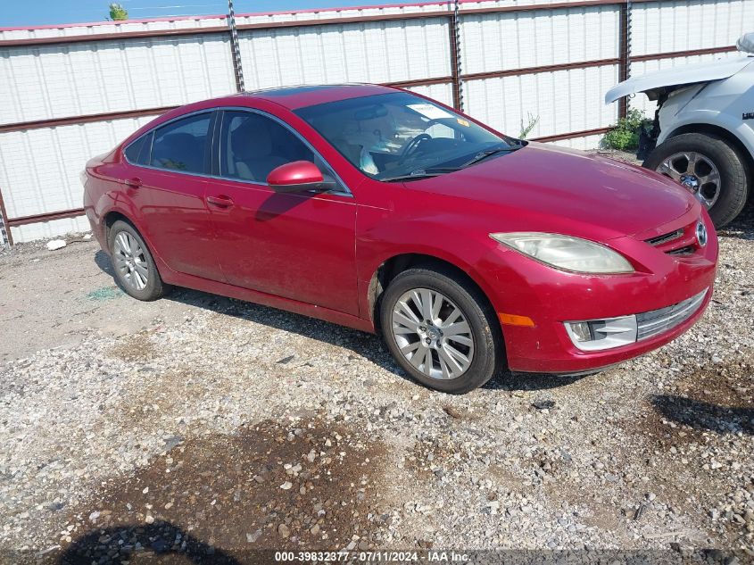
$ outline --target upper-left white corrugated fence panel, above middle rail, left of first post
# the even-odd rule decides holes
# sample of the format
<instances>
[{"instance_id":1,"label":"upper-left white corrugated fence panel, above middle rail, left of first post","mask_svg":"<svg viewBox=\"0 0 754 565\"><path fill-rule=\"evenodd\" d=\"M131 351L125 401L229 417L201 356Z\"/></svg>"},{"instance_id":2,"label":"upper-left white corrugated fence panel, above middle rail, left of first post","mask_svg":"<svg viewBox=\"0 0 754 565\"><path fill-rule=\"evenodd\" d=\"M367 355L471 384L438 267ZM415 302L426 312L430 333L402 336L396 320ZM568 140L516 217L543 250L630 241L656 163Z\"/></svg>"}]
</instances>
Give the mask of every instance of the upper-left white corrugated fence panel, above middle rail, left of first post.
<instances>
[{"instance_id":1,"label":"upper-left white corrugated fence panel, above middle rail, left of first post","mask_svg":"<svg viewBox=\"0 0 754 565\"><path fill-rule=\"evenodd\" d=\"M228 41L189 36L3 49L0 123L186 104L232 92Z\"/></svg>"}]
</instances>

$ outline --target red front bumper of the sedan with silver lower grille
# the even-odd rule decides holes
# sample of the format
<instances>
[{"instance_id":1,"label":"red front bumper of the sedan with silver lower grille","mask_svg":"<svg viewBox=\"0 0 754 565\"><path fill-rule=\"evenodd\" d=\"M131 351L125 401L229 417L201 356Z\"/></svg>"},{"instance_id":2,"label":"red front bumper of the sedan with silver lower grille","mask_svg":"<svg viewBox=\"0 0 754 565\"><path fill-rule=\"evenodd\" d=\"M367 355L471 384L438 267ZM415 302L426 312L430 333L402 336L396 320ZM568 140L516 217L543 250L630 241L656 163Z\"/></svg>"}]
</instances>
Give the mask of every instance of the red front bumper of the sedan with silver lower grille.
<instances>
[{"instance_id":1,"label":"red front bumper of the sedan with silver lower grille","mask_svg":"<svg viewBox=\"0 0 754 565\"><path fill-rule=\"evenodd\" d=\"M496 312L527 316L534 327L502 325L510 370L578 373L597 370L650 352L675 339L700 319L713 292L717 236L707 214L708 244L688 255L671 255L633 237L614 247L637 258L642 268L628 275L592 276L551 269L521 253L497 249L485 262L497 281ZM688 224L682 217L663 229ZM621 249L622 246L622 249ZM504 253L504 265L500 254ZM697 300L691 301L696 297ZM691 302L690 302L691 301ZM692 312L684 305L692 304ZM675 316L679 311L681 315ZM598 351L578 348L565 322L635 316L633 343ZM674 318L675 316L675 318Z\"/></svg>"}]
</instances>

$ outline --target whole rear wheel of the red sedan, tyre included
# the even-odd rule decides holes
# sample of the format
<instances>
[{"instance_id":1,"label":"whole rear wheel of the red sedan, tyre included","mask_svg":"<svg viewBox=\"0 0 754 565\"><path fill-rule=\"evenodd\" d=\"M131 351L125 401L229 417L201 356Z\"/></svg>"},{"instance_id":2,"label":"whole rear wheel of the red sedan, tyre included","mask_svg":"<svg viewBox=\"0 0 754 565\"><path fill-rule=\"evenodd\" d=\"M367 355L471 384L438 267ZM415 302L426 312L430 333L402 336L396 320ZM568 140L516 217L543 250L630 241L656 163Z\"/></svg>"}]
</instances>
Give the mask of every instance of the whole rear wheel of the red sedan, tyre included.
<instances>
[{"instance_id":1,"label":"whole rear wheel of the red sedan, tyre included","mask_svg":"<svg viewBox=\"0 0 754 565\"><path fill-rule=\"evenodd\" d=\"M170 287L162 282L144 238L126 221L110 228L108 246L115 282L127 295L150 302L162 298Z\"/></svg>"}]
</instances>

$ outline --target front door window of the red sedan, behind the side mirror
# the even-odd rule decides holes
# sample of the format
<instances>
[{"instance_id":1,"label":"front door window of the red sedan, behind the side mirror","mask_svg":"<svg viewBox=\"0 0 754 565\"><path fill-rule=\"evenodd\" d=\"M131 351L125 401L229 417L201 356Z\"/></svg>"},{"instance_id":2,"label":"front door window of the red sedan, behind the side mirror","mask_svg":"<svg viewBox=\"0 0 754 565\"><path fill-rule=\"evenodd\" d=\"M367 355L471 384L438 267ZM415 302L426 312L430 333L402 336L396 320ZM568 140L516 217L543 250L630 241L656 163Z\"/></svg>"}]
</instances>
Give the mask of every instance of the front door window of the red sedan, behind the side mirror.
<instances>
[{"instance_id":1,"label":"front door window of the red sedan, behind the side mirror","mask_svg":"<svg viewBox=\"0 0 754 565\"><path fill-rule=\"evenodd\" d=\"M270 171L287 162L324 163L290 130L253 112L227 111L220 133L220 175L230 179L265 182Z\"/></svg>"}]
</instances>

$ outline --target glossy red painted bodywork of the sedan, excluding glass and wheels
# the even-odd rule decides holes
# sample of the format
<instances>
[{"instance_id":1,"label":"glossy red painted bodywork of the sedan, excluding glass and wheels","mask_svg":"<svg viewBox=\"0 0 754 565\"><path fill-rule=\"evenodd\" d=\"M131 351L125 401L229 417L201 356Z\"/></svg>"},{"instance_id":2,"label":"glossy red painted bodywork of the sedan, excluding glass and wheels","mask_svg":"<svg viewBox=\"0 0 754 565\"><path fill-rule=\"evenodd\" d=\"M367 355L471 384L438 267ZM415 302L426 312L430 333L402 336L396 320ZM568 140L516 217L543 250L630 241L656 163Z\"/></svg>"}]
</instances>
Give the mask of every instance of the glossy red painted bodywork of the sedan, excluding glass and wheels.
<instances>
[{"instance_id":1,"label":"glossy red painted bodywork of the sedan, excluding glass and wheels","mask_svg":"<svg viewBox=\"0 0 754 565\"><path fill-rule=\"evenodd\" d=\"M264 303L374 330L369 284L378 267L422 253L468 273L496 312L527 316L533 328L501 328L513 370L568 372L625 361L690 328L617 349L580 352L562 322L647 312L710 292L717 236L682 187L641 168L532 143L465 170L410 183L360 173L291 109L388 87L343 87L290 96L236 95L190 104L153 120L111 154L87 164L85 208L104 242L104 220L120 212L145 235L162 278L179 286ZM352 195L280 194L263 184L191 177L135 167L121 148L185 112L247 106L297 129L336 170ZM468 118L468 120L471 120ZM126 187L138 177L144 186ZM232 205L207 202L228 199ZM702 219L708 245L686 256L643 240ZM540 231L608 245L633 263L624 275L552 269L499 245L500 231Z\"/></svg>"}]
</instances>

